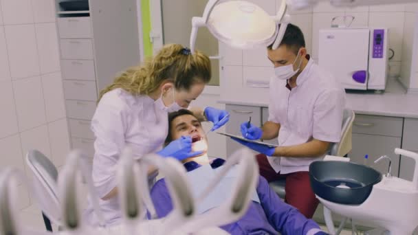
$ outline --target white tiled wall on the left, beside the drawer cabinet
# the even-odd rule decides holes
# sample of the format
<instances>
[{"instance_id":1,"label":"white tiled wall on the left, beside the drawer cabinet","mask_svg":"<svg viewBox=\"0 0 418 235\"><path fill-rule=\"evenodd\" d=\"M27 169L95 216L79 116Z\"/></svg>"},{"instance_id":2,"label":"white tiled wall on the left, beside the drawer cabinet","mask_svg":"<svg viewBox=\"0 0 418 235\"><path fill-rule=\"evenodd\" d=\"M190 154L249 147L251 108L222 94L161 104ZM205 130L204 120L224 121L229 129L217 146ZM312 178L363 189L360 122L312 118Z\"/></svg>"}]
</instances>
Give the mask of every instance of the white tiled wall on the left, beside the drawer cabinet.
<instances>
[{"instance_id":1,"label":"white tiled wall on the left, beside the drawer cabinet","mask_svg":"<svg viewBox=\"0 0 418 235\"><path fill-rule=\"evenodd\" d=\"M0 170L25 170L28 149L61 166L69 137L54 1L0 0ZM19 187L21 207L30 205Z\"/></svg>"}]
</instances>

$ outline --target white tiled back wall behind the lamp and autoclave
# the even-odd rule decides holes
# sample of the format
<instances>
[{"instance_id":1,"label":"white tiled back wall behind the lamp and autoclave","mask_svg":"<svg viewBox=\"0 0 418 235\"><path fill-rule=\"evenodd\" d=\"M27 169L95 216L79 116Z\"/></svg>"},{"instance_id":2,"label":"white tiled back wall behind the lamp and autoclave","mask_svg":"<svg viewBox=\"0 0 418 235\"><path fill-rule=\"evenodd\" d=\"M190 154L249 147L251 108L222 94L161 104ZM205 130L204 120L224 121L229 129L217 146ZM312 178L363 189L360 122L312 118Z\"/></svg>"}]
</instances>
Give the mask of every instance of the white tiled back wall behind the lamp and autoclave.
<instances>
[{"instance_id":1,"label":"white tiled back wall behind the lamp and autoclave","mask_svg":"<svg viewBox=\"0 0 418 235\"><path fill-rule=\"evenodd\" d=\"M261 8L270 14L276 14L281 3L281 0L250 1L260 5ZM395 51L395 56L389 62L389 74L391 76L399 76L403 66L403 54L406 53L403 49L403 44L405 43L404 35L410 37L409 35L413 32L413 30L404 29L405 23L410 21L410 14L415 14L408 11L410 11L410 4L334 8L328 1L321 1L312 9L290 12L290 15L292 16L291 22L298 25L305 34L308 53L316 61L318 61L319 30L331 27L331 19L334 16L354 16L355 20L351 27L388 27L390 30L389 47ZM414 25L412 22L410 24ZM408 43L408 47L412 47L412 39L406 43ZM269 80L274 74L272 64L267 60L267 52L263 49L236 50L220 43L220 50L224 55L223 76L229 78L221 80L221 83L225 84L224 87L241 87L241 90L245 91L243 93L247 93L246 89L248 88L245 86L245 81L248 78L254 77L261 80ZM410 61L406 61L406 63L410 64ZM418 77L410 84L418 85ZM254 91L248 92L254 93ZM263 96L263 94L259 95ZM230 99L228 94L223 98ZM257 100L259 99L258 97L254 97L254 99L256 99L256 102L263 102L263 100Z\"/></svg>"}]
</instances>

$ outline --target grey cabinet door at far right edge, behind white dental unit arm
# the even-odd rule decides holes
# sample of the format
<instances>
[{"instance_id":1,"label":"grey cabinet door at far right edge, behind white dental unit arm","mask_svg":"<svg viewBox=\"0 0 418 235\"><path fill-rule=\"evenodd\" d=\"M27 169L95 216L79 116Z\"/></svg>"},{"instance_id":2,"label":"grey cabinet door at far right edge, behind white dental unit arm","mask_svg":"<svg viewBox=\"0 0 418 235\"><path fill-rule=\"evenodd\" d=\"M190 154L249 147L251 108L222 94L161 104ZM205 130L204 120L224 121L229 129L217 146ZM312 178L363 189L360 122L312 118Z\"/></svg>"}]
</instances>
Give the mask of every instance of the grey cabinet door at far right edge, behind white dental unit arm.
<instances>
[{"instance_id":1,"label":"grey cabinet door at far right edge, behind white dental unit arm","mask_svg":"<svg viewBox=\"0 0 418 235\"><path fill-rule=\"evenodd\" d=\"M402 148L418 153L418 120L405 118L404 138ZM415 170L415 161L409 157L401 156L399 177L412 181ZM418 172L417 172L418 174Z\"/></svg>"}]
</instances>

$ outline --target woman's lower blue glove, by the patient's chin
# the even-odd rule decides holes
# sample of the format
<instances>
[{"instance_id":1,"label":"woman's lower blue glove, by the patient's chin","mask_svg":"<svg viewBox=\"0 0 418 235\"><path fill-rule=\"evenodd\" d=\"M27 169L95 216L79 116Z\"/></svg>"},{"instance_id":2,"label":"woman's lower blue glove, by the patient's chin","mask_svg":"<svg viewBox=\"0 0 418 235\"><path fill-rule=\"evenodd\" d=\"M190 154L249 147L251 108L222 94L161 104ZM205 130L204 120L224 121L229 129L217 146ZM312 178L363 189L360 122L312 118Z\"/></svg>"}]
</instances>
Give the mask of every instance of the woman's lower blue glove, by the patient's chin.
<instances>
[{"instance_id":1,"label":"woman's lower blue glove, by the patient's chin","mask_svg":"<svg viewBox=\"0 0 418 235\"><path fill-rule=\"evenodd\" d=\"M179 161L201 155L202 153L203 151L192 152L192 137L190 136L181 136L181 138L170 142L165 148L157 152L158 155L174 157Z\"/></svg>"}]
</instances>

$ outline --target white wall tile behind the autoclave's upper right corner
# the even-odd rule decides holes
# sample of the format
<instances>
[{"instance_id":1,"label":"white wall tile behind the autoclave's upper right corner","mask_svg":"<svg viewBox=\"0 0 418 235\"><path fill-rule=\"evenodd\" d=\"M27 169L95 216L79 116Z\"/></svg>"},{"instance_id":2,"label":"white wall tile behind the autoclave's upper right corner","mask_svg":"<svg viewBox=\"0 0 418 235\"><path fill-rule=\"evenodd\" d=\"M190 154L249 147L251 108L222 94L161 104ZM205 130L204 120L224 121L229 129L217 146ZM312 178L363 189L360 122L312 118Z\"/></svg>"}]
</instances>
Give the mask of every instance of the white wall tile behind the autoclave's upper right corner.
<instances>
[{"instance_id":1,"label":"white wall tile behind the autoclave's upper right corner","mask_svg":"<svg viewBox=\"0 0 418 235\"><path fill-rule=\"evenodd\" d=\"M388 27L389 47L395 51L392 60L402 58L402 38L404 38L404 12L370 12L370 27Z\"/></svg>"}]
</instances>

